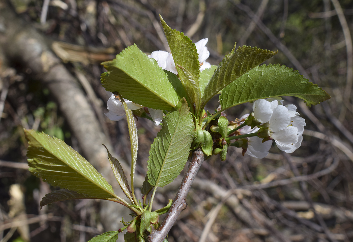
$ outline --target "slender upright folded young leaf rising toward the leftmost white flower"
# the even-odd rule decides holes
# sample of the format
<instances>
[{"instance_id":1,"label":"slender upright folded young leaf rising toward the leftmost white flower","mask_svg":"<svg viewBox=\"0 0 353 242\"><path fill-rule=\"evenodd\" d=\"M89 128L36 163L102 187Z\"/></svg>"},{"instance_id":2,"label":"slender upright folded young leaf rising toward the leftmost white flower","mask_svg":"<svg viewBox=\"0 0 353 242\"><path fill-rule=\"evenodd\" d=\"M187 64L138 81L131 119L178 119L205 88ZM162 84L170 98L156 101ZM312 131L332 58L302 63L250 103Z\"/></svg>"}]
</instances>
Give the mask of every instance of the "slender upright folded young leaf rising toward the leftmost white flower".
<instances>
[{"instance_id":1,"label":"slender upright folded young leaf rising toward the leftmost white flower","mask_svg":"<svg viewBox=\"0 0 353 242\"><path fill-rule=\"evenodd\" d=\"M135 123L135 118L132 114L130 108L127 107L127 104L123 102L126 119L127 119L127 126L129 128L130 134L130 143L131 143L131 188L132 188L132 198L137 203L136 197L134 196L134 175L135 175L135 168L136 168L136 158L137 158L137 149L138 149L138 136L137 136L137 128Z\"/></svg>"}]
</instances>

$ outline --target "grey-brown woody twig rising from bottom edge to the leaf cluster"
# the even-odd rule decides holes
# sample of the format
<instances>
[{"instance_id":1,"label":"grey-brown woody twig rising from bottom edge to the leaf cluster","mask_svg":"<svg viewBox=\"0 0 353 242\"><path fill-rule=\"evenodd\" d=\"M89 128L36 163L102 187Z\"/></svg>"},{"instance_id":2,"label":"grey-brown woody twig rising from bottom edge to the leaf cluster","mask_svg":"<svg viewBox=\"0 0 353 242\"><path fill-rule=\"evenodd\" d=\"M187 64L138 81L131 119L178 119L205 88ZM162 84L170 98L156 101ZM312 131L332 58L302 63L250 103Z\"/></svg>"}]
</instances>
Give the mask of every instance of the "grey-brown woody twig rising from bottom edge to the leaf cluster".
<instances>
[{"instance_id":1,"label":"grey-brown woody twig rising from bottom edge to the leaf cluster","mask_svg":"<svg viewBox=\"0 0 353 242\"><path fill-rule=\"evenodd\" d=\"M201 149L197 149L192 152L189 168L187 169L183 181L180 184L177 195L175 195L172 206L170 206L167 216L164 218L161 226L157 230L152 231L152 233L148 236L149 242L162 242L164 238L166 238L169 230L172 228L181 211L183 211L187 206L187 193L189 193L191 184L204 160L205 158Z\"/></svg>"}]
</instances>

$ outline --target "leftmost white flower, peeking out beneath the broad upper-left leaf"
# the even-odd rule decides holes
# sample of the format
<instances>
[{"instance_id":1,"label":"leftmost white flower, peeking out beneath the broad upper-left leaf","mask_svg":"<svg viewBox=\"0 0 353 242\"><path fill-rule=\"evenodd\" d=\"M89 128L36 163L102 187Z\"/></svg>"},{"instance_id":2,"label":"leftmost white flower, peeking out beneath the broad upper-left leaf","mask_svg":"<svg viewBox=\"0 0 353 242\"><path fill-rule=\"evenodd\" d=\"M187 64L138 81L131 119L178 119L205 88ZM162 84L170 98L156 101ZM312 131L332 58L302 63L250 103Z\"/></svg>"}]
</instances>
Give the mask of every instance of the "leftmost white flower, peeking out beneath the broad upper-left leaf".
<instances>
[{"instance_id":1,"label":"leftmost white flower, peeking out beneath the broad upper-left leaf","mask_svg":"<svg viewBox=\"0 0 353 242\"><path fill-rule=\"evenodd\" d=\"M124 98L125 103L127 104L127 107L130 108L131 110L136 110L140 109L143 106L138 105L134 102L131 102L127 99ZM109 110L109 113L105 113L105 115L112 121L119 121L122 118L125 117L125 109L124 105L122 102L119 100L119 98L116 98L114 94L110 96L110 98L107 101L107 109Z\"/></svg>"}]
</instances>

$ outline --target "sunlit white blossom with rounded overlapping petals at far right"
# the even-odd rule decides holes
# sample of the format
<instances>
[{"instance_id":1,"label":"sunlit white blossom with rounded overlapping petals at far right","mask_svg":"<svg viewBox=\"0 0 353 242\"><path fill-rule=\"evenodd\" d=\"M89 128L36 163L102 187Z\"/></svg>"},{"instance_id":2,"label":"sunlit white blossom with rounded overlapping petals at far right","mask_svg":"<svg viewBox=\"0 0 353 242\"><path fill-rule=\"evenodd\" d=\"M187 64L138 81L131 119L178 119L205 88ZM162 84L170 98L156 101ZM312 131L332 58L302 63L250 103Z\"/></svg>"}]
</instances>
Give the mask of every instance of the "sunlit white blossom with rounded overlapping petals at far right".
<instances>
[{"instance_id":1,"label":"sunlit white blossom with rounded overlapping petals at far right","mask_svg":"<svg viewBox=\"0 0 353 242\"><path fill-rule=\"evenodd\" d=\"M270 137L281 151L292 153L300 147L306 124L294 104L283 106L281 100L259 99L252 108L257 120L269 123Z\"/></svg>"}]
</instances>

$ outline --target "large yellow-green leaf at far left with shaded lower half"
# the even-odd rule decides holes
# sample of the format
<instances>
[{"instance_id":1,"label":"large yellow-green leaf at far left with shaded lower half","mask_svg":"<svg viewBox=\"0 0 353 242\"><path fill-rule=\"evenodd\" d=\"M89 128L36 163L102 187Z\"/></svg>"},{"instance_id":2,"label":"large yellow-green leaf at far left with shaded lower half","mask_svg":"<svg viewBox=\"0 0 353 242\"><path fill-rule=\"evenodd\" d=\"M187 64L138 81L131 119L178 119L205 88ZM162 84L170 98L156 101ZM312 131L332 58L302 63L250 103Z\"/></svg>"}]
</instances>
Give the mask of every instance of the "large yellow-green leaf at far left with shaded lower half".
<instances>
[{"instance_id":1,"label":"large yellow-green leaf at far left with shaded lower half","mask_svg":"<svg viewBox=\"0 0 353 242\"><path fill-rule=\"evenodd\" d=\"M118 198L106 179L64 141L35 130L24 130L28 140L28 170L44 181L101 199Z\"/></svg>"}]
</instances>

